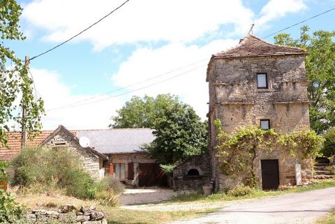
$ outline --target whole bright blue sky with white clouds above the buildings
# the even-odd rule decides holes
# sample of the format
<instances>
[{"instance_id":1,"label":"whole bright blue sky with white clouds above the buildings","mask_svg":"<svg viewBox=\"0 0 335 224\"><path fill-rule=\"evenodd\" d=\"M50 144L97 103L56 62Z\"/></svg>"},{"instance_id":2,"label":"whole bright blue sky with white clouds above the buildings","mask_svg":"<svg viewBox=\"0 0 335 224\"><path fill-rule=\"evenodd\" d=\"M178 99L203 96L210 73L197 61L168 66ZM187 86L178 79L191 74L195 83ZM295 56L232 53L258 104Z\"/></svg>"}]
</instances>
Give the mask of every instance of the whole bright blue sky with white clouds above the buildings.
<instances>
[{"instance_id":1,"label":"whole bright blue sky with white clouds above the buildings","mask_svg":"<svg viewBox=\"0 0 335 224\"><path fill-rule=\"evenodd\" d=\"M27 39L7 45L24 59L70 38L123 1L19 2ZM43 126L107 128L110 116L131 96L167 93L179 95L205 119L211 54L236 45L253 23L253 34L262 38L334 7L334 0L131 0L70 43L31 61L38 95L45 100ZM334 21L335 10L304 24L311 31L332 31ZM298 37L301 25L285 32ZM137 82L142 83L128 87ZM104 94L119 88L124 89ZM110 98L128 91L134 92Z\"/></svg>"}]
</instances>

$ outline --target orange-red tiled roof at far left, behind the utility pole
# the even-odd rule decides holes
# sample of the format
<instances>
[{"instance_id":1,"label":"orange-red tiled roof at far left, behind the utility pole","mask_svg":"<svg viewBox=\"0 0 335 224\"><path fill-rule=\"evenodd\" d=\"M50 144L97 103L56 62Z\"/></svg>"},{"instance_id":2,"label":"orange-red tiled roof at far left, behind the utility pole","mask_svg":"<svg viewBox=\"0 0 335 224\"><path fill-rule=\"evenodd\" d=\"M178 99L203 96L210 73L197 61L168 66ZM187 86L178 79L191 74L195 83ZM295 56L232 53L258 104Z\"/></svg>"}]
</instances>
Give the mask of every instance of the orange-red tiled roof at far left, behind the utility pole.
<instances>
[{"instance_id":1,"label":"orange-red tiled roof at far left, behind the utility pole","mask_svg":"<svg viewBox=\"0 0 335 224\"><path fill-rule=\"evenodd\" d=\"M73 135L77 135L77 130L70 130L70 132L73 133ZM34 138L34 140L27 140L27 147L37 147L52 133L54 133L54 130L43 130L42 133ZM21 132L13 131L7 133L7 135L9 149L0 147L0 160L12 160L17 154L20 154Z\"/></svg>"}]
</instances>

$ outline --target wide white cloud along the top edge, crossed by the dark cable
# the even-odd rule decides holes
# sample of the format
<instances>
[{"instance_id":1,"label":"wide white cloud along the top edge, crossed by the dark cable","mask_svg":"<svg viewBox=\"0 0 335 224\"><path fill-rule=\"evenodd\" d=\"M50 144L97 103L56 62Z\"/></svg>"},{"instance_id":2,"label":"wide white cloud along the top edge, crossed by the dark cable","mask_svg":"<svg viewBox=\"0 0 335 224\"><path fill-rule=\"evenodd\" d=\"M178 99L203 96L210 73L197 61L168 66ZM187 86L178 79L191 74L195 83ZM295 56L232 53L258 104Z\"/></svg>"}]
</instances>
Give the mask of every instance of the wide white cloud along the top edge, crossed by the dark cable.
<instances>
[{"instance_id":1,"label":"wide white cloud along the top edge, crossed by the dark cable","mask_svg":"<svg viewBox=\"0 0 335 224\"><path fill-rule=\"evenodd\" d=\"M121 2L35 0L24 6L22 17L45 29L45 40L61 41L96 22ZM232 24L235 31L245 34L252 18L253 12L240 0L129 1L96 27L82 33L79 39L91 41L96 50L138 41L188 42L206 33L215 34L222 24Z\"/></svg>"}]
</instances>

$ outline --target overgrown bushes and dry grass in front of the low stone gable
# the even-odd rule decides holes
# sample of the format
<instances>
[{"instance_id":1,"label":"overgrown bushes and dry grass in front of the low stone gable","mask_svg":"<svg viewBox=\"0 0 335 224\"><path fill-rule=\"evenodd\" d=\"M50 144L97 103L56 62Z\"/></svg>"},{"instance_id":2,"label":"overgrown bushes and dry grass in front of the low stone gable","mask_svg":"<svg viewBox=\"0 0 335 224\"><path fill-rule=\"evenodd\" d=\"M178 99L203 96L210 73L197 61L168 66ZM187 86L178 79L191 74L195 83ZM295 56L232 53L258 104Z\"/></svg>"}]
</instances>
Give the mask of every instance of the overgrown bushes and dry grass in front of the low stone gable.
<instances>
[{"instance_id":1,"label":"overgrown bushes and dry grass in front of the low stone gable","mask_svg":"<svg viewBox=\"0 0 335 224\"><path fill-rule=\"evenodd\" d=\"M124 188L114 177L94 181L82 168L77 152L64 147L24 149L13 160L13 186L21 193L66 193L66 195L97 199L103 204L116 205L115 195Z\"/></svg>"}]
</instances>

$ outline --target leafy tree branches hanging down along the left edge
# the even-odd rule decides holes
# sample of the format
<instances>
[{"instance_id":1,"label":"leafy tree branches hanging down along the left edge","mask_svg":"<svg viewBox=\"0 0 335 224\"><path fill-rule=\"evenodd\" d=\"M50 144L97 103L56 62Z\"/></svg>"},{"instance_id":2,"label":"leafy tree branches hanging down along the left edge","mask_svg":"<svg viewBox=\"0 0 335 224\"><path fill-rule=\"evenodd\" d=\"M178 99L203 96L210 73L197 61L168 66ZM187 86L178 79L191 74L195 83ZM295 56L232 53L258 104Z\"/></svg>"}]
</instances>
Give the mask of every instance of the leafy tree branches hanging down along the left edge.
<instances>
[{"instance_id":1,"label":"leafy tree branches hanging down along the left edge","mask_svg":"<svg viewBox=\"0 0 335 224\"><path fill-rule=\"evenodd\" d=\"M24 40L19 26L21 12L15 0L0 1L0 146L7 144L10 121L25 124L28 133L36 133L41 128L40 115L44 112L43 100L34 96L28 67L4 42ZM17 102L27 111L25 119L17 114Z\"/></svg>"}]
</instances>

